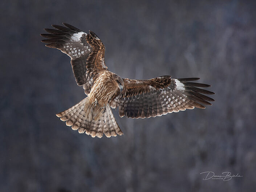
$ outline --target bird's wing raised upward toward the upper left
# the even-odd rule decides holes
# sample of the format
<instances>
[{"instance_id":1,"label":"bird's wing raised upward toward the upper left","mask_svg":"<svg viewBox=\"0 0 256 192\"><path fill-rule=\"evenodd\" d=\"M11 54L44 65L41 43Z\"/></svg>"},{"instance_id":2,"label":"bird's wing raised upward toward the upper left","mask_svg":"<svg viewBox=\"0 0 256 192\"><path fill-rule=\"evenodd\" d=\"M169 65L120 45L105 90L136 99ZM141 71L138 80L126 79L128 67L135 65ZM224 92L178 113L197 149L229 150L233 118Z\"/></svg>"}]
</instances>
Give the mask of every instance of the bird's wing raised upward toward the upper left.
<instances>
[{"instance_id":1,"label":"bird's wing raised upward toward the upper left","mask_svg":"<svg viewBox=\"0 0 256 192\"><path fill-rule=\"evenodd\" d=\"M89 31L82 32L72 25L52 25L56 29L44 29L50 34L40 34L48 38L42 40L47 47L60 49L71 58L71 65L77 85L84 87L89 94L94 80L107 66L104 62L105 46L99 37Z\"/></svg>"}]
</instances>

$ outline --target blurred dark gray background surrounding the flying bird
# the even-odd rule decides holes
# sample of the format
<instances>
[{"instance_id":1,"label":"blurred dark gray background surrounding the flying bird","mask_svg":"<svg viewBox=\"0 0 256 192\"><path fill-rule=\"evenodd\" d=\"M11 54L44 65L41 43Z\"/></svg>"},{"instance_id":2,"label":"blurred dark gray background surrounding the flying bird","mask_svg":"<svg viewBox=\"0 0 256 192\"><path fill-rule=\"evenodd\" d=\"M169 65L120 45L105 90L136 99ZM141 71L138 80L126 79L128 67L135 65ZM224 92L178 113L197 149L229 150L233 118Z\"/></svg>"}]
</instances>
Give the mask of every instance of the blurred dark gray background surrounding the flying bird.
<instances>
[{"instance_id":1,"label":"blurred dark gray background surrounding the flying bird","mask_svg":"<svg viewBox=\"0 0 256 192\"><path fill-rule=\"evenodd\" d=\"M1 1L0 191L256 189L256 3ZM51 24L94 31L123 78L200 77L213 106L115 117L124 135L92 138L55 116L85 97L70 58L46 48ZM201 172L243 177L203 180Z\"/></svg>"}]
</instances>

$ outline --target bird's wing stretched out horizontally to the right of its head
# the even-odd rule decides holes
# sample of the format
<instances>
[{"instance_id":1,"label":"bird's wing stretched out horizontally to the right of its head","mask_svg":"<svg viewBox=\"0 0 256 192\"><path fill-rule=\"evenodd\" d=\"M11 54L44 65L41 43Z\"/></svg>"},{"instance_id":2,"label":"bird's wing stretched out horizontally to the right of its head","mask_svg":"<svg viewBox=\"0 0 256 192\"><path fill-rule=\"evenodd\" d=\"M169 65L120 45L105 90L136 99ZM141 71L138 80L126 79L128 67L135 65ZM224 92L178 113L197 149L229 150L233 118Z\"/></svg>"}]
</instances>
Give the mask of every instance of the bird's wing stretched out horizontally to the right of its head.
<instances>
[{"instance_id":1,"label":"bird's wing stretched out horizontally to the right of its head","mask_svg":"<svg viewBox=\"0 0 256 192\"><path fill-rule=\"evenodd\" d=\"M194 109L205 109L202 104L211 105L214 99L203 94L214 94L198 87L210 85L194 83L199 78L173 79L162 76L148 80L123 79L122 93L109 101L112 108L119 107L119 116L149 118L167 113Z\"/></svg>"}]
</instances>

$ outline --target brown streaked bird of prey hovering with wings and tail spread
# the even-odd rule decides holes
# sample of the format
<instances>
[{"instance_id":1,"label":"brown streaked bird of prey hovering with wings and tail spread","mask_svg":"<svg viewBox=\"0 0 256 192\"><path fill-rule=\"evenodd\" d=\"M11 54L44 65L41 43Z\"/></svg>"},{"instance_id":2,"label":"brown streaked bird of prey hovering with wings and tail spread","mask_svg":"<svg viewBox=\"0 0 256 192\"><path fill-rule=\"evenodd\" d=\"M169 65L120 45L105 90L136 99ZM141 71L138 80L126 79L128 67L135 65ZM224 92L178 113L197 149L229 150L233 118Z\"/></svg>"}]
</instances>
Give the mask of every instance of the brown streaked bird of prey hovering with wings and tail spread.
<instances>
[{"instance_id":1,"label":"brown streaked bird of prey hovering with wings and tail spread","mask_svg":"<svg viewBox=\"0 0 256 192\"><path fill-rule=\"evenodd\" d=\"M99 37L89 30L82 32L63 23L44 29L40 34L49 48L57 48L71 58L71 65L78 86L83 86L87 97L73 107L56 114L67 126L92 137L122 135L112 110L119 107L119 116L150 118L167 113L205 109L214 99L204 94L214 94L198 87L210 85L195 83L199 78L123 79L110 72L105 64L105 46Z\"/></svg>"}]
</instances>

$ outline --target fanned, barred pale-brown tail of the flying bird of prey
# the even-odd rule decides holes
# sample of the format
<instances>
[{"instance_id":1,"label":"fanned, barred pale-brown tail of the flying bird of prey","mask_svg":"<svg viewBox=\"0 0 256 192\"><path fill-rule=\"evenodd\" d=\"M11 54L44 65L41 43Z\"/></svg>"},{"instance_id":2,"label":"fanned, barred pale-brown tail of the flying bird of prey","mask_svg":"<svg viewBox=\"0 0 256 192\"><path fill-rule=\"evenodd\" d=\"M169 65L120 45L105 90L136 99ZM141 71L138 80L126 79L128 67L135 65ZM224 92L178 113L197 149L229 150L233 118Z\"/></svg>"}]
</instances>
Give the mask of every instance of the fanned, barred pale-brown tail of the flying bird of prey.
<instances>
[{"instance_id":1,"label":"fanned, barred pale-brown tail of the flying bird of prey","mask_svg":"<svg viewBox=\"0 0 256 192\"><path fill-rule=\"evenodd\" d=\"M78 130L79 133L85 132L92 137L101 138L103 133L107 137L123 134L109 104L106 106L105 113L102 114L99 107L94 107L92 103L89 103L89 97L56 116L66 121L66 125L72 126L73 130Z\"/></svg>"}]
</instances>

